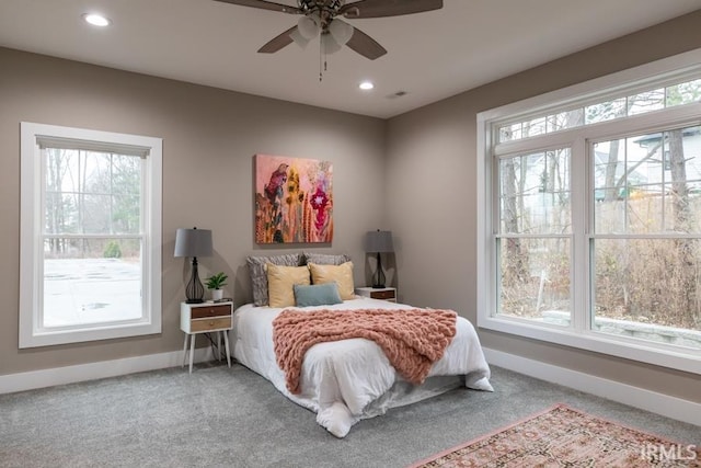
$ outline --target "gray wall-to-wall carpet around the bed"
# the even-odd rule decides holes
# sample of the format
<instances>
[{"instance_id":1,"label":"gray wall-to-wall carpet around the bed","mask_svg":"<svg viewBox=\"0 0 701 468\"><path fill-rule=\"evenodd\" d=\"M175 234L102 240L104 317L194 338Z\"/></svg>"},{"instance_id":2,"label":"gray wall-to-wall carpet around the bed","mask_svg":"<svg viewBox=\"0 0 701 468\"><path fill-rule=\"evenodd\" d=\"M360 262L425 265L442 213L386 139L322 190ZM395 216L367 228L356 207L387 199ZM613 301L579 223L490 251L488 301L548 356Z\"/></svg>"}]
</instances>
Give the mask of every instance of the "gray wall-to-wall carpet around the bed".
<instances>
[{"instance_id":1,"label":"gray wall-to-wall carpet around the bed","mask_svg":"<svg viewBox=\"0 0 701 468\"><path fill-rule=\"evenodd\" d=\"M0 396L1 467L405 467L564 402L699 444L701 427L493 368L495 392L457 389L337 440L233 365L180 367Z\"/></svg>"}]
</instances>

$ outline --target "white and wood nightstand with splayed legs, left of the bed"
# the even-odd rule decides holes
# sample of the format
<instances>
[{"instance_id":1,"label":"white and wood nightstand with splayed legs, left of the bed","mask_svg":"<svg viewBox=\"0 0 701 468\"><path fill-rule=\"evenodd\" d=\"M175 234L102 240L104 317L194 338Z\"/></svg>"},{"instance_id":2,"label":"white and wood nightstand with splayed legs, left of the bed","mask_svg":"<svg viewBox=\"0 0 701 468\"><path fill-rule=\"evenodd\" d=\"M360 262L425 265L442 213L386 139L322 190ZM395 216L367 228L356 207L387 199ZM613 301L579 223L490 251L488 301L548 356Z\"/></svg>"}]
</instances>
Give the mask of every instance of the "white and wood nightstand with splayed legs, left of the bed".
<instances>
[{"instance_id":1,"label":"white and wood nightstand with splayed legs, left of the bed","mask_svg":"<svg viewBox=\"0 0 701 468\"><path fill-rule=\"evenodd\" d=\"M180 304L180 329L185 332L183 344L183 366L187 358L187 339L189 339L189 373L193 373L195 340L198 333L216 333L218 358L221 359L221 335L227 351L227 364L231 367L229 336L227 331L233 327L233 303Z\"/></svg>"}]
</instances>

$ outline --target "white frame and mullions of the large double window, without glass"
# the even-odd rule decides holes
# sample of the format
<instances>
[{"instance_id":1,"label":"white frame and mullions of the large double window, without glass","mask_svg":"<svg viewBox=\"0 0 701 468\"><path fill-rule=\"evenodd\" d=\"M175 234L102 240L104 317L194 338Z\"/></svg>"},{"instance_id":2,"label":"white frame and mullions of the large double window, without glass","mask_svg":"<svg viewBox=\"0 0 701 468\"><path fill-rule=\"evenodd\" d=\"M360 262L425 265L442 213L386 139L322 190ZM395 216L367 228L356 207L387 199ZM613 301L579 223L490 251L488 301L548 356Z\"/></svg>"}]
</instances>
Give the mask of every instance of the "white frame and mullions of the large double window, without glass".
<instances>
[{"instance_id":1,"label":"white frame and mullions of the large double window, without glass","mask_svg":"<svg viewBox=\"0 0 701 468\"><path fill-rule=\"evenodd\" d=\"M586 152L594 140L613 138L627 132L643 129L655 130L668 126L699 125L701 123L701 103L686 104L640 114L619 121L591 124L553 134L535 136L515 141L502 142L496 151L496 129L505 122L540 115L549 110L567 103L591 100L591 96L616 94L621 90L640 89L642 84L665 80L668 77L688 76L701 70L701 49L668 57L618 73L575 84L547 94L519 101L502 107L478 114L478 326L518 336L541 340L565 346L588 350L632 361L701 374L701 351L674 349L642 340L627 339L600 333L589 326L589 297L586 278L582 275L589 271L589 239L593 237L588 226L591 206L586 199L587 184L591 174ZM583 137L582 135L586 135ZM584 174L572 178L571 190L573 212L573 252L572 264L585 267L572 269L572 324L568 328L548 326L535 321L496 315L497 308L497 269L495 220L498 221L498 202L494 197L498 187L497 171L494 161L498 156L515 155L518 151L530 152L536 146L542 149L555 146L572 148L571 173ZM583 196L584 194L584 196Z\"/></svg>"}]
</instances>

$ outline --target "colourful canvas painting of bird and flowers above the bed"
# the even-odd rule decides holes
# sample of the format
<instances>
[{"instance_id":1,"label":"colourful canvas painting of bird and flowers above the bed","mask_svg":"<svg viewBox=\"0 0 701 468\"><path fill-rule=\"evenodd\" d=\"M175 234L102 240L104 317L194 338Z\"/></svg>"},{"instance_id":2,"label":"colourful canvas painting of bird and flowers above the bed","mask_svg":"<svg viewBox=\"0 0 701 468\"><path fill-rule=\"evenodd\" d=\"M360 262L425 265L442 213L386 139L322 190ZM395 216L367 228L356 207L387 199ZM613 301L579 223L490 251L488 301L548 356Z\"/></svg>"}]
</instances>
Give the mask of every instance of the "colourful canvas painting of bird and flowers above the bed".
<instances>
[{"instance_id":1,"label":"colourful canvas painting of bird and flowers above the bed","mask_svg":"<svg viewBox=\"0 0 701 468\"><path fill-rule=\"evenodd\" d=\"M331 242L332 182L329 161L256 155L255 242Z\"/></svg>"}]
</instances>

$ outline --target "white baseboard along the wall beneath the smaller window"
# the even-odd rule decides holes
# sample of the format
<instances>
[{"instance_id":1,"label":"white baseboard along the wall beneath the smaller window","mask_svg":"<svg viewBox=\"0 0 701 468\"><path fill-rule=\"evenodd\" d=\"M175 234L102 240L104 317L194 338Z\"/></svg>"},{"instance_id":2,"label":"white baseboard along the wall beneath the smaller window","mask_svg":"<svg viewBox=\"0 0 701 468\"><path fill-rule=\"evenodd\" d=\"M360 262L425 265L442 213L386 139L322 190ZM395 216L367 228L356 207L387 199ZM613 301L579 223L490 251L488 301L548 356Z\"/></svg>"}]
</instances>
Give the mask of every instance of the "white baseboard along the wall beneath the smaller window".
<instances>
[{"instance_id":1,"label":"white baseboard along the wall beneath the smaller window","mask_svg":"<svg viewBox=\"0 0 701 468\"><path fill-rule=\"evenodd\" d=\"M210 347L197 347L195 350L193 361L195 363L203 363L211 361L212 358ZM9 374L0 376L0 393L11 393L14 391L32 390L35 388L53 387L55 385L116 377L146 370L175 367L181 366L182 364L183 352L173 351L170 353L126 357L123 359L103 361L100 363ZM187 372L187 365L185 366L184 372Z\"/></svg>"}]
</instances>

